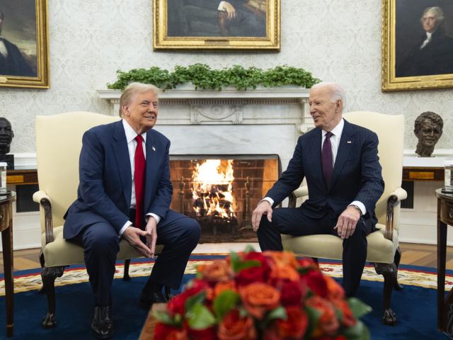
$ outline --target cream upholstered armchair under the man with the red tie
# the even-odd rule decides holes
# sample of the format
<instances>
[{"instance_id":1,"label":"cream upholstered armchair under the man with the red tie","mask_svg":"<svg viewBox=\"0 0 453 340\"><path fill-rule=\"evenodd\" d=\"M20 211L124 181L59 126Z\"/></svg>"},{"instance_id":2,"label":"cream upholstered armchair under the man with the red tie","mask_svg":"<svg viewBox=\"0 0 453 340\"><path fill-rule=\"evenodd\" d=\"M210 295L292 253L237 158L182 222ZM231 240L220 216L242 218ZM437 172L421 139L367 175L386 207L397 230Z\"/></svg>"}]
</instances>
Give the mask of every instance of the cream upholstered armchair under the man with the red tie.
<instances>
[{"instance_id":1,"label":"cream upholstered armchair under the man with the red tie","mask_svg":"<svg viewBox=\"0 0 453 340\"><path fill-rule=\"evenodd\" d=\"M79 154L82 135L89 128L112 123L119 117L90 112L70 112L59 115L38 115L36 128L36 159L39 191L33 200L40 203L42 292L47 294L49 310L42 327L55 327L55 279L64 268L84 263L84 249L63 239L63 216L76 199L79 186ZM161 247L158 247L161 249ZM156 252L159 252L156 249ZM141 257L125 240L120 242L117 259ZM130 260L125 261L124 278Z\"/></svg>"}]
</instances>

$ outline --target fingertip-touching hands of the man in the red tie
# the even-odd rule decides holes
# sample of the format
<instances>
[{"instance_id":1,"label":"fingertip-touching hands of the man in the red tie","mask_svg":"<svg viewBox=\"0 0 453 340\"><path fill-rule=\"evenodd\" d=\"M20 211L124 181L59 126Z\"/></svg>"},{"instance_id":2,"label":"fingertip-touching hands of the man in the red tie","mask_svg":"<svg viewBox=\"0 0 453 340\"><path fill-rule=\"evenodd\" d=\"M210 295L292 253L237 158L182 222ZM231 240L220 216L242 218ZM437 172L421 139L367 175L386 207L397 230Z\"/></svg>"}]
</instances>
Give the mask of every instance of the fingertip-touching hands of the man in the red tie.
<instances>
[{"instance_id":1,"label":"fingertip-touching hands of the man in the red tie","mask_svg":"<svg viewBox=\"0 0 453 340\"><path fill-rule=\"evenodd\" d=\"M122 236L127 242L135 249L140 251L144 256L149 259L154 258L156 251L157 241L157 223L154 217L150 216L147 222L146 229L142 230L132 225L127 227ZM144 244L140 239L140 236L145 237L147 243Z\"/></svg>"}]
</instances>

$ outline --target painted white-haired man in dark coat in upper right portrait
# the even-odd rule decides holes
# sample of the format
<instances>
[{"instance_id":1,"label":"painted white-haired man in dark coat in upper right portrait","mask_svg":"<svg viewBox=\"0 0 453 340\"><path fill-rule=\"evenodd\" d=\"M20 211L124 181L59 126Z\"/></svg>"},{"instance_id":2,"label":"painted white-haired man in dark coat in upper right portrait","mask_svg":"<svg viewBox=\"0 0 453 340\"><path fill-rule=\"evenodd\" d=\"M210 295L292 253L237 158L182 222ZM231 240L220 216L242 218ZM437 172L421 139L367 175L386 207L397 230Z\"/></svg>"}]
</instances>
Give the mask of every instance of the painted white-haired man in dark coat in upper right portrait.
<instances>
[{"instance_id":1,"label":"painted white-haired man in dark coat in upper right portrait","mask_svg":"<svg viewBox=\"0 0 453 340\"><path fill-rule=\"evenodd\" d=\"M425 32L396 65L396 77L453 74L453 39L445 35L442 8L428 7L420 18Z\"/></svg>"}]
</instances>

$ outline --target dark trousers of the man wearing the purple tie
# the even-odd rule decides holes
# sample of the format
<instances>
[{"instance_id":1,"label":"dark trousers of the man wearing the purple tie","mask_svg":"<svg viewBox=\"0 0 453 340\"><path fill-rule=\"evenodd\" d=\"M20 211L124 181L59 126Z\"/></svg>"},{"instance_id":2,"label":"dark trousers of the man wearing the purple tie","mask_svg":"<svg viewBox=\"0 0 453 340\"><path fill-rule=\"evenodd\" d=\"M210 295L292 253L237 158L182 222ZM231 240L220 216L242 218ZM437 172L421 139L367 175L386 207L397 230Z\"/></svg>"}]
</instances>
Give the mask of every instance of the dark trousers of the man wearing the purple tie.
<instances>
[{"instance_id":1,"label":"dark trousers of the man wearing the purple tie","mask_svg":"<svg viewBox=\"0 0 453 340\"><path fill-rule=\"evenodd\" d=\"M273 210L272 222L263 216L258 229L258 242L264 250L283 250L280 234L306 236L312 234L333 234L337 217L328 212L319 219L307 216L304 208L277 208ZM355 295L359 288L365 260L367 259L367 235L374 231L372 219L360 218L355 232L343 240L343 288L348 296Z\"/></svg>"}]
</instances>

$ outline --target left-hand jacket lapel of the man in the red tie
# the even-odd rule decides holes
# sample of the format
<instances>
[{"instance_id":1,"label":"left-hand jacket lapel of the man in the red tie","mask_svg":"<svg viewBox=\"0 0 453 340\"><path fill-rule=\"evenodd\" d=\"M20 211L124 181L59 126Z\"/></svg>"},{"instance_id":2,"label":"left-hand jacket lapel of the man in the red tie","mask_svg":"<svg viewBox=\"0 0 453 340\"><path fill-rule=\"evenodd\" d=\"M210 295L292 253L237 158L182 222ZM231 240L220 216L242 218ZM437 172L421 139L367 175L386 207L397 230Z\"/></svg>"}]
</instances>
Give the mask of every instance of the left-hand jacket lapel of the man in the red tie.
<instances>
[{"instance_id":1,"label":"left-hand jacket lapel of the man in the red tie","mask_svg":"<svg viewBox=\"0 0 453 340\"><path fill-rule=\"evenodd\" d=\"M132 196L132 174L130 169L129 149L127 149L126 134L125 129L122 126L122 120L115 125L112 147L117 168L120 172L122 192L125 195L127 206L130 207L130 198Z\"/></svg>"}]
</instances>

